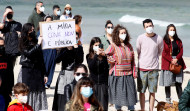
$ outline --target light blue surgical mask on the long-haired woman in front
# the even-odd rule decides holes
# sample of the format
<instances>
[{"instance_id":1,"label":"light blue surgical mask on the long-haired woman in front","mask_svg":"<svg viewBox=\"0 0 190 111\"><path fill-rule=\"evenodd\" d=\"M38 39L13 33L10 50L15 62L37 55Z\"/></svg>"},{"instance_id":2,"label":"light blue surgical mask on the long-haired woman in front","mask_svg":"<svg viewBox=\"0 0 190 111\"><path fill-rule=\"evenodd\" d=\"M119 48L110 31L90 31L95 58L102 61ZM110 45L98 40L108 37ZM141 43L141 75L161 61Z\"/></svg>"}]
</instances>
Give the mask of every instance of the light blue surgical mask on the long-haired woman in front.
<instances>
[{"instance_id":1,"label":"light blue surgical mask on the long-haired woman in front","mask_svg":"<svg viewBox=\"0 0 190 111\"><path fill-rule=\"evenodd\" d=\"M81 87L81 94L86 97L89 98L92 94L93 94L93 90L91 87Z\"/></svg>"}]
</instances>

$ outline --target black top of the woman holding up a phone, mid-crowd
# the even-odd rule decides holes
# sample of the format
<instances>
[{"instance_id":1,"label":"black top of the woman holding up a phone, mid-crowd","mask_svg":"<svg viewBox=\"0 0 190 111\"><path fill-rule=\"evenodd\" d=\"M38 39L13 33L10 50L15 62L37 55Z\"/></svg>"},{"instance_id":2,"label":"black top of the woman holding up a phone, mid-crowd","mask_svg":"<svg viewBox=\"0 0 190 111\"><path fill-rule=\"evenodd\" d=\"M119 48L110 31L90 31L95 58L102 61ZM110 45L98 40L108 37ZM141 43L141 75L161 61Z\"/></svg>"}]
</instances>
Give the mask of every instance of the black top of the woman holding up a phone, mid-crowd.
<instances>
[{"instance_id":1,"label":"black top of the woman holding up a phone, mid-crowd","mask_svg":"<svg viewBox=\"0 0 190 111\"><path fill-rule=\"evenodd\" d=\"M88 67L90 70L90 78L95 84L108 84L109 66L107 57L103 56L102 60L98 59L98 55L94 55L94 58L89 58L89 54L86 56Z\"/></svg>"}]
</instances>

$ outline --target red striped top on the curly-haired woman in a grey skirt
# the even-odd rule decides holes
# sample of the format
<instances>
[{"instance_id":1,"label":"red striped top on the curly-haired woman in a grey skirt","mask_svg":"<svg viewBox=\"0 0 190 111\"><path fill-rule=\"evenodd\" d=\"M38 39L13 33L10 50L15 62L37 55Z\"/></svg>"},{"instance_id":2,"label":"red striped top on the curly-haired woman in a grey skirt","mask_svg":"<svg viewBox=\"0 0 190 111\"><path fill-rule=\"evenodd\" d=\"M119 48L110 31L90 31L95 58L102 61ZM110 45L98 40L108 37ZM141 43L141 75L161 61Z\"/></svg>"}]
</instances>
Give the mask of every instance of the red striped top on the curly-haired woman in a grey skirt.
<instances>
[{"instance_id":1,"label":"red striped top on the curly-haired woman in a grey skirt","mask_svg":"<svg viewBox=\"0 0 190 111\"><path fill-rule=\"evenodd\" d=\"M112 64L109 74L114 71L115 76L136 75L134 51L130 44L124 46L111 44L105 53L108 55L108 62ZM109 56L113 56L114 60Z\"/></svg>"}]
</instances>

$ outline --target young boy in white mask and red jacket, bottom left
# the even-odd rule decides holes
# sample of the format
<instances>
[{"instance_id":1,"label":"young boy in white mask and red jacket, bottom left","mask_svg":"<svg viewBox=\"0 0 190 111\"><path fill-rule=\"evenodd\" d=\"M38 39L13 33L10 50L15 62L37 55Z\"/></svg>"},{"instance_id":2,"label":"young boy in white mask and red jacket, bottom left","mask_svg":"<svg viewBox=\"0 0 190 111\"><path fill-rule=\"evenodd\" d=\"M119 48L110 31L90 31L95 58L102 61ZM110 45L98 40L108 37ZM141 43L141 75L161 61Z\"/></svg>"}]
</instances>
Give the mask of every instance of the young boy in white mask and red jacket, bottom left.
<instances>
[{"instance_id":1,"label":"young boy in white mask and red jacket, bottom left","mask_svg":"<svg viewBox=\"0 0 190 111\"><path fill-rule=\"evenodd\" d=\"M10 102L7 111L33 111L32 107L27 104L28 86L24 83L17 83L13 90L16 99Z\"/></svg>"}]
</instances>

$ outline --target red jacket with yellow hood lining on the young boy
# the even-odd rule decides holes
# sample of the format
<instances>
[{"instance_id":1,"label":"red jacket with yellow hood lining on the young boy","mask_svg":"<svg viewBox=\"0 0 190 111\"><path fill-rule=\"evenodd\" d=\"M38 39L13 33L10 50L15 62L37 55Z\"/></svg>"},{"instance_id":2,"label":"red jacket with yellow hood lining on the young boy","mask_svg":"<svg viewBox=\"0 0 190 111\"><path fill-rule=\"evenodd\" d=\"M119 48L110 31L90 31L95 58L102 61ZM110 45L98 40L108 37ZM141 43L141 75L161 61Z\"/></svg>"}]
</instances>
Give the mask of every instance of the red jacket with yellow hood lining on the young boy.
<instances>
[{"instance_id":1,"label":"red jacket with yellow hood lining on the young boy","mask_svg":"<svg viewBox=\"0 0 190 111\"><path fill-rule=\"evenodd\" d=\"M22 106L21 103L18 103L17 99L15 99L9 104L7 111L33 111L32 107L29 106L28 104L23 104L23 105L24 107Z\"/></svg>"}]
</instances>

